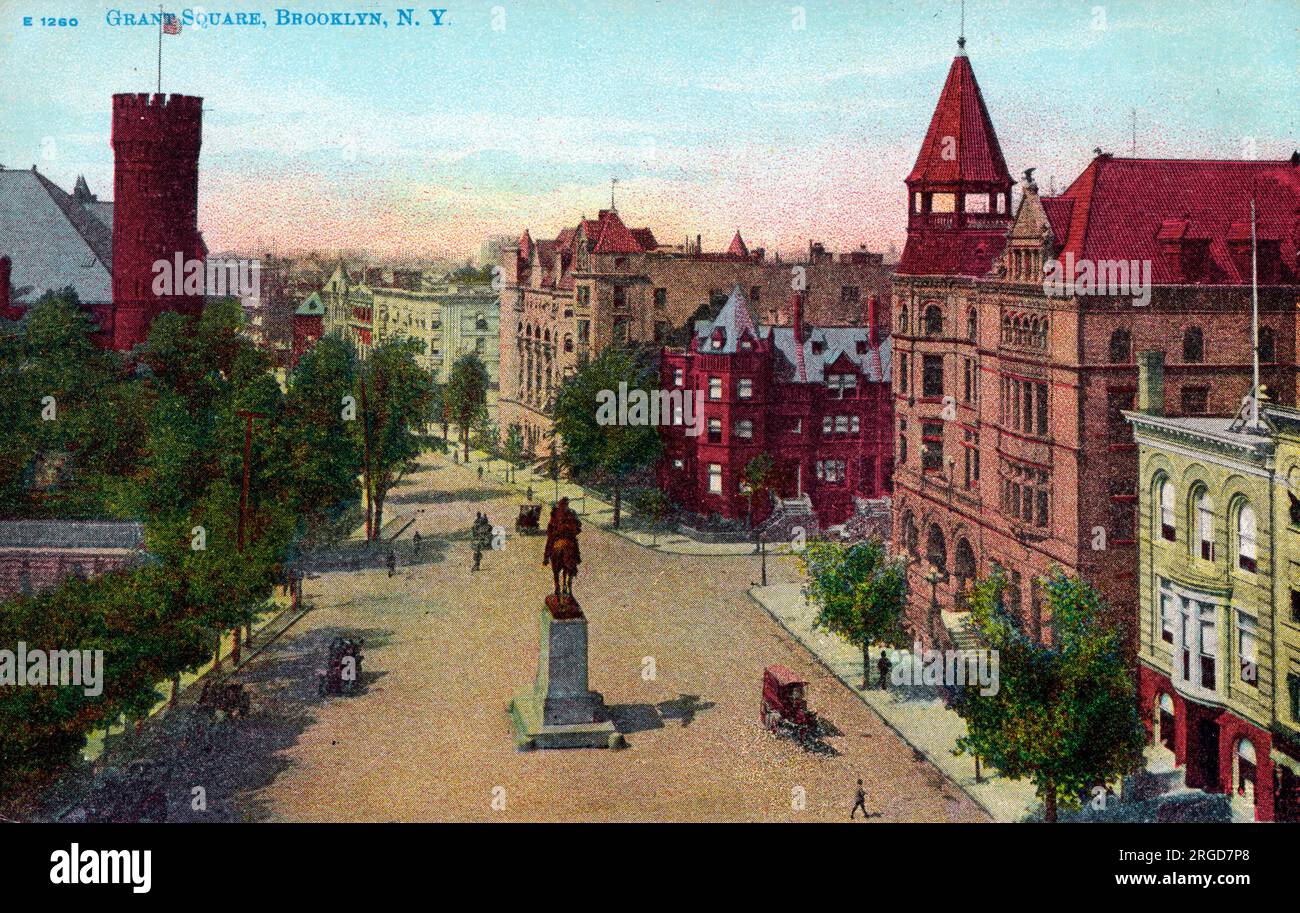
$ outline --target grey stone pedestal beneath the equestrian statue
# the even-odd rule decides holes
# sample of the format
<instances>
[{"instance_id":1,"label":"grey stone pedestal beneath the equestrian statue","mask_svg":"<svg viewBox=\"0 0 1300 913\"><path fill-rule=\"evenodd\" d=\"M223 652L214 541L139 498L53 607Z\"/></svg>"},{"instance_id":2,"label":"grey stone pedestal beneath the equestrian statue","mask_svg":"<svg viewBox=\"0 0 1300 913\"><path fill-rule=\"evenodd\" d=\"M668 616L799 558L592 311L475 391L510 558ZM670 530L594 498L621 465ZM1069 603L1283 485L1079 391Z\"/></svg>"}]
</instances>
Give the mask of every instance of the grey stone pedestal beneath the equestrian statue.
<instances>
[{"instance_id":1,"label":"grey stone pedestal beneath the equestrian statue","mask_svg":"<svg viewBox=\"0 0 1300 913\"><path fill-rule=\"evenodd\" d=\"M586 616L572 596L546 597L537 679L510 702L520 748L619 748L599 692L586 683Z\"/></svg>"}]
</instances>

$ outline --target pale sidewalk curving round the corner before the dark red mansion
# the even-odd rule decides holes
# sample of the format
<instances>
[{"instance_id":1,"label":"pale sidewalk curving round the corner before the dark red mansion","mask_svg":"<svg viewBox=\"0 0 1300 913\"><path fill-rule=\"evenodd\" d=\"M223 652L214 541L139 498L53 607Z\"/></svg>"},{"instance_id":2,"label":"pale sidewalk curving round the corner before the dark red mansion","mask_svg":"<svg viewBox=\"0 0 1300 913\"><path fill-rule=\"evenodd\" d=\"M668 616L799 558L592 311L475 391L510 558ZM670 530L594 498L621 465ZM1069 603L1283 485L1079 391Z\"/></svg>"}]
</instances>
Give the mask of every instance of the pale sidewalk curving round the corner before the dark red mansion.
<instances>
[{"instance_id":1,"label":"pale sidewalk curving round the corner before the dark red mansion","mask_svg":"<svg viewBox=\"0 0 1300 913\"><path fill-rule=\"evenodd\" d=\"M459 450L456 451L460 453ZM465 470L467 472L477 472L478 466L485 466L484 481L491 477L494 485L514 489L519 493L520 498L524 497L528 488L533 489L533 498L536 501L550 502L552 497L568 498L569 506L573 507L581 516L584 522L594 523L604 532L621 536L629 542L636 542L646 549L654 549L655 551L662 551L664 554L672 555L698 555L705 558L725 558L725 557L738 557L738 555L757 555L753 542L698 542L693 538L686 538L685 536L673 532L671 529L663 529L655 536L649 529L633 528L629 525L629 520L640 525L640 519L634 519L636 514L628 506L627 499L621 505L620 527L614 528L614 505L603 499L603 496L594 494L589 489L582 488L572 481L560 480L559 488L556 489L556 483L551 481L543 475L537 473L532 470L525 470L516 473L515 481L504 481L504 462L489 456L481 450L469 447L469 463L452 463L447 459L447 454L433 454L434 459L442 462L445 466L458 467ZM493 463L494 467L488 470L486 464ZM542 518L545 523L546 518ZM768 542L767 554L768 557L779 555L789 551L789 546L785 542Z\"/></svg>"}]
</instances>

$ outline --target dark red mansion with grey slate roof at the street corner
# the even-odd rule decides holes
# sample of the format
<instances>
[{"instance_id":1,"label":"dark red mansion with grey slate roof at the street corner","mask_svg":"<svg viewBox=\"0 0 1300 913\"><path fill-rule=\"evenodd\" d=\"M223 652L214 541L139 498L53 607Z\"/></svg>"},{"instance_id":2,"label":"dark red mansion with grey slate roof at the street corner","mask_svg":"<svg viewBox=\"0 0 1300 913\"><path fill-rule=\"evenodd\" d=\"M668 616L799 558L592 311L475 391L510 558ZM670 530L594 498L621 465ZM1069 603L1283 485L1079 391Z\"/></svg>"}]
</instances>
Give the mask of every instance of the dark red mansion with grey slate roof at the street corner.
<instances>
[{"instance_id":1,"label":"dark red mansion with grey slate roof at the street corner","mask_svg":"<svg viewBox=\"0 0 1300 913\"><path fill-rule=\"evenodd\" d=\"M759 454L775 463L779 497L823 527L846 520L855 498L885 497L890 343L875 311L871 295L861 326L811 326L796 294L792 325L763 326L737 286L716 319L696 324L688 349L666 349L662 388L698 391L703 403L699 434L684 423L663 428L659 483L668 497L696 514L744 520L742 472ZM755 498L754 519L771 507Z\"/></svg>"}]
</instances>

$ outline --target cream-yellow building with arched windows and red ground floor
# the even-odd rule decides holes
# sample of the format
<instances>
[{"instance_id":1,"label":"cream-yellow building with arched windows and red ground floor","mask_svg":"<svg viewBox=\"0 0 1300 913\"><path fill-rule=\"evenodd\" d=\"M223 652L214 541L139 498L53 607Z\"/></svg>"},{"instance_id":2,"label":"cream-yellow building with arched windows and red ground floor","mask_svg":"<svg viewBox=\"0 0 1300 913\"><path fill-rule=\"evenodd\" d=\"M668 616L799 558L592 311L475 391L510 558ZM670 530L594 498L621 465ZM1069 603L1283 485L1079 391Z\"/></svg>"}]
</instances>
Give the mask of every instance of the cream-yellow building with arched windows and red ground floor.
<instances>
[{"instance_id":1,"label":"cream-yellow building with arched windows and red ground floor","mask_svg":"<svg viewBox=\"0 0 1300 913\"><path fill-rule=\"evenodd\" d=\"M1156 760L1236 817L1300 821L1300 411L1164 414L1143 352L1139 706ZM1245 390L1248 388L1239 388Z\"/></svg>"}]
</instances>

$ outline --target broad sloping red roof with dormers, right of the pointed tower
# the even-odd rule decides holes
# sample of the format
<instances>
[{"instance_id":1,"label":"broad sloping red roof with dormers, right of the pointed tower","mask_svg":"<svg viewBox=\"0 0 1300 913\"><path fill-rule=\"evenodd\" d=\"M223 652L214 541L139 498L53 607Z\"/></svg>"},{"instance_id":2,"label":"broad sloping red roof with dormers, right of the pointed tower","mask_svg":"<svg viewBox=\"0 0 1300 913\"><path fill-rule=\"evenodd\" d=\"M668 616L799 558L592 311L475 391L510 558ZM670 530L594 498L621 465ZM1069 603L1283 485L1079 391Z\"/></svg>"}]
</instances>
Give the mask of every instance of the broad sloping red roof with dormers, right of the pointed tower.
<instances>
[{"instance_id":1,"label":"broad sloping red roof with dormers, right of the pointed tower","mask_svg":"<svg viewBox=\"0 0 1300 913\"><path fill-rule=\"evenodd\" d=\"M1282 161L1118 159L1101 155L1058 198L1045 198L1054 213L1067 213L1067 233L1057 233L1058 256L1083 260L1150 260L1152 282L1178 284L1162 256L1165 242L1209 242L1210 284L1249 282L1231 255L1230 241L1249 241L1251 198L1256 235L1278 242L1283 281L1295 281L1300 243L1300 165ZM1069 209L1065 207L1069 205ZM1288 278L1290 277L1290 278Z\"/></svg>"}]
</instances>

